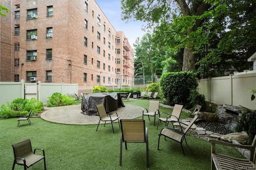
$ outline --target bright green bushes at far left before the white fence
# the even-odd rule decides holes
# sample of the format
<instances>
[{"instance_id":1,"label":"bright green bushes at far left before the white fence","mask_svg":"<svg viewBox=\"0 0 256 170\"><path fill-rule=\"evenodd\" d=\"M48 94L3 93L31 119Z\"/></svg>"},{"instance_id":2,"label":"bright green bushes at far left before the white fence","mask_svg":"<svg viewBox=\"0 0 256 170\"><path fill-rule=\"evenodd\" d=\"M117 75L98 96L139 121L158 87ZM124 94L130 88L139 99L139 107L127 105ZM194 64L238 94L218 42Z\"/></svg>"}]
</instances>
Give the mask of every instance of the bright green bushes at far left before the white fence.
<instances>
[{"instance_id":1,"label":"bright green bushes at far left before the white fence","mask_svg":"<svg viewBox=\"0 0 256 170\"><path fill-rule=\"evenodd\" d=\"M26 116L32 111L32 115L38 115L44 110L44 106L41 101L35 98L32 99L14 99L11 103L7 102L6 105L2 105L0 108L0 117L12 118Z\"/></svg>"}]
</instances>

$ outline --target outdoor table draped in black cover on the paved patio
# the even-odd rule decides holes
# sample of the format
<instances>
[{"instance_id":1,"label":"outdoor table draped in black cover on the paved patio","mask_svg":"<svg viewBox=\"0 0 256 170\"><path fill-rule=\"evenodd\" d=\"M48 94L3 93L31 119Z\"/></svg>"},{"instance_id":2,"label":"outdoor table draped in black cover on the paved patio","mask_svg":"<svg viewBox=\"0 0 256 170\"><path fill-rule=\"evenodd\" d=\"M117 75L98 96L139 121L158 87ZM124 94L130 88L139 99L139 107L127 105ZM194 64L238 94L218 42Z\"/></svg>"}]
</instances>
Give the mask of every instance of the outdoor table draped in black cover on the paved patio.
<instances>
[{"instance_id":1,"label":"outdoor table draped in black cover on the paved patio","mask_svg":"<svg viewBox=\"0 0 256 170\"><path fill-rule=\"evenodd\" d=\"M81 103L82 114L98 115L96 105L103 104L106 112L116 111L119 107L125 107L120 93L93 93L84 95Z\"/></svg>"}]
</instances>

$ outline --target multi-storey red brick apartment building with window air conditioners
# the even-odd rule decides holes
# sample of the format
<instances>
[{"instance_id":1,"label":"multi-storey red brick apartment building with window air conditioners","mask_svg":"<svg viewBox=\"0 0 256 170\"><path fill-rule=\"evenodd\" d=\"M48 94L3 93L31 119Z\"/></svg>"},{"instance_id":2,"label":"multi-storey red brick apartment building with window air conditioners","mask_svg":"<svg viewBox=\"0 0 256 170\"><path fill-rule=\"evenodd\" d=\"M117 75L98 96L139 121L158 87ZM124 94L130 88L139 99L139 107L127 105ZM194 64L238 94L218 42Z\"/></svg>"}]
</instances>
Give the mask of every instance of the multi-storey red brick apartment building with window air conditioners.
<instances>
[{"instance_id":1,"label":"multi-storey red brick apartment building with window air conditioners","mask_svg":"<svg viewBox=\"0 0 256 170\"><path fill-rule=\"evenodd\" d=\"M94 0L4 0L0 81L133 84L134 51Z\"/></svg>"}]
</instances>

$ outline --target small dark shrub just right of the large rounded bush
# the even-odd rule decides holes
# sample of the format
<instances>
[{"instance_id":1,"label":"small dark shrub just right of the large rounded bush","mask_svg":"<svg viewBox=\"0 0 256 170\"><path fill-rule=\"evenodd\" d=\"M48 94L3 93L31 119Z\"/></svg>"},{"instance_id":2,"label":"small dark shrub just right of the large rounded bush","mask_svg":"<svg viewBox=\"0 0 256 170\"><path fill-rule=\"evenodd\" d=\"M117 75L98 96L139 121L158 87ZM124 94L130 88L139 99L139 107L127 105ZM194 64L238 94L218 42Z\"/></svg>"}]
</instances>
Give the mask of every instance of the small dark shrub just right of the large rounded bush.
<instances>
[{"instance_id":1,"label":"small dark shrub just right of the large rounded bush","mask_svg":"<svg viewBox=\"0 0 256 170\"><path fill-rule=\"evenodd\" d=\"M202 94L199 94L196 89L192 89L190 91L189 96L190 106L195 107L196 105L201 105L201 111L206 111L206 102L205 102L205 96Z\"/></svg>"}]
</instances>

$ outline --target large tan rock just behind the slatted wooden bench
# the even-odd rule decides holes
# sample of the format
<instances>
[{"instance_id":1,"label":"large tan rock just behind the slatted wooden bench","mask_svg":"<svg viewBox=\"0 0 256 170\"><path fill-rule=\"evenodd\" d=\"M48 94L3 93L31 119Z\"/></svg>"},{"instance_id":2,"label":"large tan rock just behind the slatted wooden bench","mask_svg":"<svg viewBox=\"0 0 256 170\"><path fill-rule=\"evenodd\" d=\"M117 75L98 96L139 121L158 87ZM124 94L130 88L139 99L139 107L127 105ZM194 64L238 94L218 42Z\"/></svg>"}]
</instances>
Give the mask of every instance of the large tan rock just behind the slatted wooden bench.
<instances>
[{"instance_id":1,"label":"large tan rock just behind the slatted wooden bench","mask_svg":"<svg viewBox=\"0 0 256 170\"><path fill-rule=\"evenodd\" d=\"M236 140L241 144L246 144L248 138L249 136L246 132L235 132L221 136L220 140L224 140L226 142L232 142L232 140Z\"/></svg>"}]
</instances>

